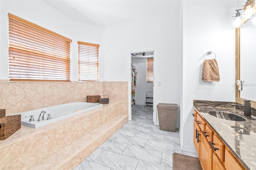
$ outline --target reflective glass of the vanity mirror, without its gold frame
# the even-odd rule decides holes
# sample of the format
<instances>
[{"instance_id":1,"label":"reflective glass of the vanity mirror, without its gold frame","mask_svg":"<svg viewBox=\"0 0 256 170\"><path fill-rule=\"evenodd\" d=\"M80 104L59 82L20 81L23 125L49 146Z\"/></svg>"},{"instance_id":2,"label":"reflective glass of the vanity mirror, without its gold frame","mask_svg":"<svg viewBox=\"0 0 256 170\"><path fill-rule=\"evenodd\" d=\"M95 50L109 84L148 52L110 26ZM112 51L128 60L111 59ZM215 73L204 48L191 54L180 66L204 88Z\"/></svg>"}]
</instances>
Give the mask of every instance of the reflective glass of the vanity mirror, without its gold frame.
<instances>
[{"instance_id":1,"label":"reflective glass of the vanity mirror, without its gold frame","mask_svg":"<svg viewBox=\"0 0 256 170\"><path fill-rule=\"evenodd\" d=\"M240 80L244 80L240 97L256 101L256 26L252 19L240 28Z\"/></svg>"}]
</instances>

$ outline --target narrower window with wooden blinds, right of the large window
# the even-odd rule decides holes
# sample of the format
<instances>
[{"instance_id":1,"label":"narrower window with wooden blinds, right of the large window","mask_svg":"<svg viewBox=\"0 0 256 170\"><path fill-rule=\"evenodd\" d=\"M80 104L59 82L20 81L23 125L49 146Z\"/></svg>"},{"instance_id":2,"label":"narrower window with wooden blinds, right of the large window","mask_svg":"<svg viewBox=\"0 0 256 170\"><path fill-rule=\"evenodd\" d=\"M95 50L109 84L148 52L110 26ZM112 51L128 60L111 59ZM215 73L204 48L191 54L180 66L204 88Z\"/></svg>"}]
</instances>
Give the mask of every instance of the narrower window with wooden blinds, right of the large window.
<instances>
[{"instance_id":1,"label":"narrower window with wooden blinds, right of the large window","mask_svg":"<svg viewBox=\"0 0 256 170\"><path fill-rule=\"evenodd\" d=\"M99 81L98 44L78 43L78 81Z\"/></svg>"}]
</instances>

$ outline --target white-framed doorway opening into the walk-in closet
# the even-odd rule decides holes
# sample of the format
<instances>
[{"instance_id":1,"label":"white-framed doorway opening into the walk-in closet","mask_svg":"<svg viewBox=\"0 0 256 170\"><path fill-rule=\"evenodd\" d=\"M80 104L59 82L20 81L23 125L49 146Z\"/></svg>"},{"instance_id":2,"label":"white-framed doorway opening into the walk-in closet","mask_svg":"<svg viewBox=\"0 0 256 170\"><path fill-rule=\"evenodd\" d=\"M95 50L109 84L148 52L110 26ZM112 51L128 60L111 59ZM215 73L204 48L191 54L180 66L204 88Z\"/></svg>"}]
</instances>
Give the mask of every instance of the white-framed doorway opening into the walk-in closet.
<instances>
[{"instance_id":1,"label":"white-framed doorway opening into the walk-in closet","mask_svg":"<svg viewBox=\"0 0 256 170\"><path fill-rule=\"evenodd\" d=\"M155 50L129 52L131 70L129 70L129 121L132 120L132 108L138 105L146 110L152 109L153 122L156 124L156 102L154 90ZM135 106L136 105L136 106ZM134 107L135 106L135 107Z\"/></svg>"}]
</instances>

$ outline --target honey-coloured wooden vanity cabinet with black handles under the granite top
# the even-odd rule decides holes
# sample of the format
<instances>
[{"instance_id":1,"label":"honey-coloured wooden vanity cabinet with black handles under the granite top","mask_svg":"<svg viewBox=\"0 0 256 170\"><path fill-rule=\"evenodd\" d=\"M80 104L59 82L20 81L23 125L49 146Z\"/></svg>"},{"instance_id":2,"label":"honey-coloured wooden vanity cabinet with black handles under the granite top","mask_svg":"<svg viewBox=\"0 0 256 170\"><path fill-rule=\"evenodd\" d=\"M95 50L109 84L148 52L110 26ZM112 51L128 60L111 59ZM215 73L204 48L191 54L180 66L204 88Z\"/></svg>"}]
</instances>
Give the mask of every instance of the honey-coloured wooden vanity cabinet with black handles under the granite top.
<instances>
[{"instance_id":1,"label":"honey-coloured wooden vanity cabinet with black handles under the granite top","mask_svg":"<svg viewBox=\"0 0 256 170\"><path fill-rule=\"evenodd\" d=\"M194 145L203 170L245 170L214 130L194 111Z\"/></svg>"}]
</instances>

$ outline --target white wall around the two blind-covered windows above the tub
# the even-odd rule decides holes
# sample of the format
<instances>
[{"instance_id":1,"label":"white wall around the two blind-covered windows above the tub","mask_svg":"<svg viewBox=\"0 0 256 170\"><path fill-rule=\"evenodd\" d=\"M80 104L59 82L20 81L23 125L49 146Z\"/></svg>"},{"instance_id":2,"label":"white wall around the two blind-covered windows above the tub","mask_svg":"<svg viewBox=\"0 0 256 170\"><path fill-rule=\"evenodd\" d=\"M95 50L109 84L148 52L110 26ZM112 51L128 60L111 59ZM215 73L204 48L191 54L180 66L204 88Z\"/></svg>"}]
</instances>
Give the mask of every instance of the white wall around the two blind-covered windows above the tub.
<instances>
[{"instance_id":1,"label":"white wall around the two blind-covered windows above the tub","mask_svg":"<svg viewBox=\"0 0 256 170\"><path fill-rule=\"evenodd\" d=\"M42 26L62 36L71 43L71 81L77 81L77 41L100 44L102 28L71 20L42 0L1 0L0 1L0 79L8 79L8 13ZM103 63L100 63L100 66ZM101 68L101 67L100 67ZM103 72L100 69L100 78ZM101 79L100 79L101 81Z\"/></svg>"}]
</instances>

